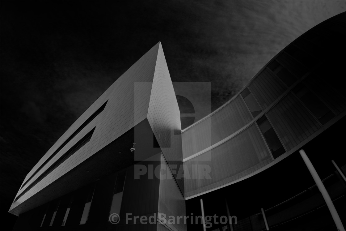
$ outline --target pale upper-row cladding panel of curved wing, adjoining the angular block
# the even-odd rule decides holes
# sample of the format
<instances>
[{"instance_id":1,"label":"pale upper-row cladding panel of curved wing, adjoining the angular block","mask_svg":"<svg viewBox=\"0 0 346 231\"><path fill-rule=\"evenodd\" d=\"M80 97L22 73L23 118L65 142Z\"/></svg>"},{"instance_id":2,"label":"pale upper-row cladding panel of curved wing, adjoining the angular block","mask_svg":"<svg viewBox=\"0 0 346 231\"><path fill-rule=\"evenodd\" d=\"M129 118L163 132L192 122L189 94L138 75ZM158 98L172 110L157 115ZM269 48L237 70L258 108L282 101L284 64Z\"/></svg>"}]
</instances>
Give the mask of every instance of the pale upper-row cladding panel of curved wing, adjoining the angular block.
<instances>
[{"instance_id":1,"label":"pale upper-row cladding panel of curved wing, adjoining the angular block","mask_svg":"<svg viewBox=\"0 0 346 231\"><path fill-rule=\"evenodd\" d=\"M184 158L225 139L251 121L240 96L182 133Z\"/></svg>"}]
</instances>

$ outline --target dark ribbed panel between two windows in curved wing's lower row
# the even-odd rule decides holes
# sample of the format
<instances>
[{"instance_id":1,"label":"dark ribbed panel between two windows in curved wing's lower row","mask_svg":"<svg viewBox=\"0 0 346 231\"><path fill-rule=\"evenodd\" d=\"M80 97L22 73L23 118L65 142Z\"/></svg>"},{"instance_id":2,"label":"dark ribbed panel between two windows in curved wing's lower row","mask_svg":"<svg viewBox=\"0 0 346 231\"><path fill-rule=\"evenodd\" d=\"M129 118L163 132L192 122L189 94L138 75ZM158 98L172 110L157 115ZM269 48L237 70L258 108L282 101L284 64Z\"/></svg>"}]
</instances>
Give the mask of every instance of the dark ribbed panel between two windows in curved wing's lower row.
<instances>
[{"instance_id":1,"label":"dark ribbed panel between two windows in curved wing's lower row","mask_svg":"<svg viewBox=\"0 0 346 231\"><path fill-rule=\"evenodd\" d=\"M321 127L291 92L276 104L267 116L287 151Z\"/></svg>"}]
</instances>

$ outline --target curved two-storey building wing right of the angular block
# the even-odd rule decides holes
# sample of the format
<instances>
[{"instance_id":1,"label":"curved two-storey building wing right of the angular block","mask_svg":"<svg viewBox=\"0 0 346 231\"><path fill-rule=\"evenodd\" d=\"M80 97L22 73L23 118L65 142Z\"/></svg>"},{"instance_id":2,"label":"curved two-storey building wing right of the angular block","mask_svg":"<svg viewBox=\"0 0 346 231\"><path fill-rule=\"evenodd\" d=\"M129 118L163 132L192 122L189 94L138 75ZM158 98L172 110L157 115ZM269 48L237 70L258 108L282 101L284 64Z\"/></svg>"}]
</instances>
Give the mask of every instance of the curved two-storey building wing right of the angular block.
<instances>
[{"instance_id":1,"label":"curved two-storey building wing right of the angular block","mask_svg":"<svg viewBox=\"0 0 346 231\"><path fill-rule=\"evenodd\" d=\"M345 116L345 14L295 39L226 104L182 131L185 197L246 179ZM198 179L199 165L211 179Z\"/></svg>"}]
</instances>

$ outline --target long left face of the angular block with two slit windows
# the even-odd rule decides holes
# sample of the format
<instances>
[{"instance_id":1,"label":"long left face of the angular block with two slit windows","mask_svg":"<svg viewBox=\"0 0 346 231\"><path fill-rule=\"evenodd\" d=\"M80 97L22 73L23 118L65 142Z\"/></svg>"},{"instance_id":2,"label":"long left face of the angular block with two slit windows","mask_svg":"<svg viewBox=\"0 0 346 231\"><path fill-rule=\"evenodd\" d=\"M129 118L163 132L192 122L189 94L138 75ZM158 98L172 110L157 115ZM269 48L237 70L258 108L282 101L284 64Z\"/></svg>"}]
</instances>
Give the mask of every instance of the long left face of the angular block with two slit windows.
<instances>
[{"instance_id":1,"label":"long left face of the angular block with two slit windows","mask_svg":"<svg viewBox=\"0 0 346 231\"><path fill-rule=\"evenodd\" d=\"M68 137L73 134L97 109L99 109L107 100L104 110L93 118L73 139L71 139L55 156L40 169L28 183L19 190L16 197L23 193L30 184L35 181L43 172L65 154L76 142L95 128L91 140L82 146L77 152L57 166L46 177L40 180L34 187L22 195L10 208L10 211L26 201L54 180L66 174L68 171L78 166L81 162L100 151L106 145L116 140L122 134L127 132L139 122L147 117L151 86L143 85L136 89L137 96L142 95L142 100L135 105L134 86L135 82L152 82L155 72L157 52L159 43L143 55L135 64L133 64L124 74L121 75L86 111L74 122L71 127L60 137L51 149L43 156L36 166L29 172L28 179ZM119 110L121 108L121 110ZM135 110L136 108L136 110ZM135 116L136 114L136 116Z\"/></svg>"}]
</instances>

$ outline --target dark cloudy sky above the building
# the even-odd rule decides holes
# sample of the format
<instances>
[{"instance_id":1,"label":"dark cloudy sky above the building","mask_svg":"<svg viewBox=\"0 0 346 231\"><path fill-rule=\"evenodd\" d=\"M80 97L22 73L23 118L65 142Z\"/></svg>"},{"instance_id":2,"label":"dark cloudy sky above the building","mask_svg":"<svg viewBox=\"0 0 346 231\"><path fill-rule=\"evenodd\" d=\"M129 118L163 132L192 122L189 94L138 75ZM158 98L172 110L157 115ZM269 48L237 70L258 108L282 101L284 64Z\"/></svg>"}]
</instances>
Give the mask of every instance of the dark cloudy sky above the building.
<instances>
[{"instance_id":1,"label":"dark cloudy sky above the building","mask_svg":"<svg viewBox=\"0 0 346 231\"><path fill-rule=\"evenodd\" d=\"M1 1L1 214L54 142L158 41L173 82L211 82L215 110L345 10L309 0Z\"/></svg>"}]
</instances>

